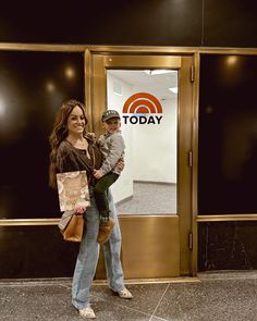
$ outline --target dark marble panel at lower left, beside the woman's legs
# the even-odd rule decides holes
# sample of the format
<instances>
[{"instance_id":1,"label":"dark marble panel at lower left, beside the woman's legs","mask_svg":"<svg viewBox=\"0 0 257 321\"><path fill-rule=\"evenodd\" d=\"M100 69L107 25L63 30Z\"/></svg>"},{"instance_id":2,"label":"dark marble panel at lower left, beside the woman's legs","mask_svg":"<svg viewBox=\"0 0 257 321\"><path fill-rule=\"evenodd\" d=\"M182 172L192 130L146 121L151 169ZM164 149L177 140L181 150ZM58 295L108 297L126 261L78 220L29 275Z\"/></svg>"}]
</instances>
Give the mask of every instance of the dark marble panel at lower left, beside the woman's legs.
<instances>
[{"instance_id":1,"label":"dark marble panel at lower left, beside the woman's legs","mask_svg":"<svg viewBox=\"0 0 257 321\"><path fill-rule=\"evenodd\" d=\"M0 227L0 279L72 276L77 251L57 226Z\"/></svg>"}]
</instances>

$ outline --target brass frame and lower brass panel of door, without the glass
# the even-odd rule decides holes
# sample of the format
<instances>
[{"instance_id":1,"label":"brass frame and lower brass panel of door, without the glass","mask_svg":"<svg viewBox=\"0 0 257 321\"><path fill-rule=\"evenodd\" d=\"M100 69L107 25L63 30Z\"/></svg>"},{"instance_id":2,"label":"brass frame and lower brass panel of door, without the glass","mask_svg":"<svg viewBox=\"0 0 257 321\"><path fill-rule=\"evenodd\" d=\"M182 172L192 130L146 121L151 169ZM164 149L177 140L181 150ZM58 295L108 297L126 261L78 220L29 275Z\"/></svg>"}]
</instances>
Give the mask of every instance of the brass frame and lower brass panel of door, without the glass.
<instances>
[{"instance_id":1,"label":"brass frame and lower brass panel of door, without the glass","mask_svg":"<svg viewBox=\"0 0 257 321\"><path fill-rule=\"evenodd\" d=\"M100 116L107 106L107 70L108 69L175 69L179 70L179 128L178 128L178 213L172 215L120 215L120 223L123 234L123 268L125 270L126 277L169 277L180 275L195 275L196 260L193 260L192 235L193 231L196 233L196 229L193 227L192 220L192 149L193 149L193 118L194 118L194 54L189 55L155 55L155 54L111 54L111 53L93 53L87 57L88 64L90 65L91 82L88 85L88 115L91 120L90 128L97 135L100 134ZM90 103L89 103L90 101ZM181 121L183 120L183 121ZM151 262L149 258L144 256L139 258L137 254L138 244L130 243L130 233L133 229L133 220L137 221L136 226L142 225L142 230L138 233L144 234L144 238L148 240L148 246L152 247L154 244L158 244L158 239L147 238L147 226L160 224L160 230L157 231L157 236L161 237L161 233L166 231L167 226L170 226L170 234L173 234L173 238L166 238L166 245L160 246L155 256L156 260L164 260L164 256L169 258L170 252L179 254L178 269L172 270L172 260L174 258L167 259L166 267ZM144 224L142 224L144 222ZM138 227L139 229L139 227ZM162 232L161 232L162 231ZM179 231L179 233L178 233ZM158 235L160 233L160 235ZM166 231L167 235L169 234ZM132 235L132 234L131 234ZM196 236L194 235L196 238ZM138 239L137 239L138 242ZM171 245L172 244L172 245ZM196 243L195 243L196 244ZM146 246L147 243L144 243ZM158 246L157 246L158 247ZM134 250L134 251L133 251ZM127 257L132 254L137 254L138 258L133 258L134 266L127 261ZM136 256L136 255L135 255ZM132 258L132 256L130 256ZM137 260L138 259L138 260ZM154 264L154 267L152 267ZM174 263L175 264L175 263ZM151 266L151 270L149 270ZM134 268L133 268L134 267ZM169 270L171 269L171 270ZM97 270L97 279L105 277L105 264L100 259L100 263ZM156 273L156 274L155 274Z\"/></svg>"}]
</instances>

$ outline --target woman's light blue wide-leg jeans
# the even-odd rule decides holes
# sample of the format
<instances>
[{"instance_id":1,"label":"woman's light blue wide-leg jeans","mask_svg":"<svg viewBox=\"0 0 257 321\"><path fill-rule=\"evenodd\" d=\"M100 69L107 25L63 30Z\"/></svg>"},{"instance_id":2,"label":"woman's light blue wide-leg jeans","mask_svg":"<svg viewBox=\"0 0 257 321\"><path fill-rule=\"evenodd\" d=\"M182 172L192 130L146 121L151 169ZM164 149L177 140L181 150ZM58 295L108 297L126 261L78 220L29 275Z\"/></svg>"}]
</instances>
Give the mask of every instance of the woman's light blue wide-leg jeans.
<instances>
[{"instance_id":1,"label":"woman's light blue wide-leg jeans","mask_svg":"<svg viewBox=\"0 0 257 321\"><path fill-rule=\"evenodd\" d=\"M114 220L115 224L109 240L103 244L103 255L109 287L112 291L118 292L124 287L123 270L120 260L121 231L110 192L108 192L108 200L111 211L110 217ZM83 309L90 306L89 288L96 273L99 257L99 244L97 243L99 212L96 207L91 188L90 207L86 209L84 219L86 222L85 235L81 243L72 282L72 304L76 309Z\"/></svg>"}]
</instances>

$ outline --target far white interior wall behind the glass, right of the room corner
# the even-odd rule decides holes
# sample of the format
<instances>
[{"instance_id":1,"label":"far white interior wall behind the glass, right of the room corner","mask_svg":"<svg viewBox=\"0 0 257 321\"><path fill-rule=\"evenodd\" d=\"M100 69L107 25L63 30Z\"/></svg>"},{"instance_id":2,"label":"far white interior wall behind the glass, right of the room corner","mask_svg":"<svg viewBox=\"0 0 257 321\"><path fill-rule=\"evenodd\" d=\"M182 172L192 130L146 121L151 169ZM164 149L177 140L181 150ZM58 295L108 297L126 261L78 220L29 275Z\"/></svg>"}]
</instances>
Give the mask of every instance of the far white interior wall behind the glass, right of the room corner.
<instances>
[{"instance_id":1,"label":"far white interior wall behind the glass, right of the room corner","mask_svg":"<svg viewBox=\"0 0 257 321\"><path fill-rule=\"evenodd\" d=\"M135 181L176 183L176 103L160 102L163 111L160 124L131 125Z\"/></svg>"}]
</instances>

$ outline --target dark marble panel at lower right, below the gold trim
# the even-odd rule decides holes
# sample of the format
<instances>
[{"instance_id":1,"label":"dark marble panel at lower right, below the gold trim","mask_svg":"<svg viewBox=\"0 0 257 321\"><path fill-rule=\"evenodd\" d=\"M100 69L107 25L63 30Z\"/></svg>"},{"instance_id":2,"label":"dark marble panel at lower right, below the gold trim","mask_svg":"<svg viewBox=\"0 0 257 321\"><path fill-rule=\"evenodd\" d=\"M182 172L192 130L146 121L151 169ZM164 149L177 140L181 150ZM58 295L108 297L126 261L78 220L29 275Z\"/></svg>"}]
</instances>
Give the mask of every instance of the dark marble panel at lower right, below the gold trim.
<instances>
[{"instance_id":1,"label":"dark marble panel at lower right, below the gold trim","mask_svg":"<svg viewBox=\"0 0 257 321\"><path fill-rule=\"evenodd\" d=\"M198 271L256 270L257 222L198 225Z\"/></svg>"}]
</instances>

